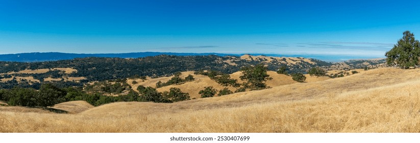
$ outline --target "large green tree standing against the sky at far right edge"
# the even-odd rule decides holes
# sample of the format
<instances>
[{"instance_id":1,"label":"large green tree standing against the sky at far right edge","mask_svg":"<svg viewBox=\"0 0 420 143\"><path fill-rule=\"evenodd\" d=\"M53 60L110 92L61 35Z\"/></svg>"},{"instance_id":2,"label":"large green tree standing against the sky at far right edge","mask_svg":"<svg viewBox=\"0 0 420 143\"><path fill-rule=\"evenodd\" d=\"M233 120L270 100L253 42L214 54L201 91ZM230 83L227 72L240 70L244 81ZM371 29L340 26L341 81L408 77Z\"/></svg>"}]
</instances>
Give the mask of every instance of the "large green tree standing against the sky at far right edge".
<instances>
[{"instance_id":1,"label":"large green tree standing against the sky at far right edge","mask_svg":"<svg viewBox=\"0 0 420 143\"><path fill-rule=\"evenodd\" d=\"M414 34L410 31L405 31L403 38L391 50L386 52L385 56L386 63L390 66L409 68L419 65L420 42L415 40Z\"/></svg>"}]
</instances>

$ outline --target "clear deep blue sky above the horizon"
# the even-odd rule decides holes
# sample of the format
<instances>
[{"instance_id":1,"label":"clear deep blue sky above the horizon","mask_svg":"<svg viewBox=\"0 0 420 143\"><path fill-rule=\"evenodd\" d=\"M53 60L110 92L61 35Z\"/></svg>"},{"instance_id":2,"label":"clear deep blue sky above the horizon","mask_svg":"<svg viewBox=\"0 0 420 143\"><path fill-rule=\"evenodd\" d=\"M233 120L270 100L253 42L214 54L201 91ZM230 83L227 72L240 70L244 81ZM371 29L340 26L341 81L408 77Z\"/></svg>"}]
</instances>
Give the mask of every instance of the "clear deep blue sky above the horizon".
<instances>
[{"instance_id":1,"label":"clear deep blue sky above the horizon","mask_svg":"<svg viewBox=\"0 0 420 143\"><path fill-rule=\"evenodd\" d=\"M420 1L0 0L0 54L271 53L383 57L420 34ZM420 38L420 37L418 37Z\"/></svg>"}]
</instances>

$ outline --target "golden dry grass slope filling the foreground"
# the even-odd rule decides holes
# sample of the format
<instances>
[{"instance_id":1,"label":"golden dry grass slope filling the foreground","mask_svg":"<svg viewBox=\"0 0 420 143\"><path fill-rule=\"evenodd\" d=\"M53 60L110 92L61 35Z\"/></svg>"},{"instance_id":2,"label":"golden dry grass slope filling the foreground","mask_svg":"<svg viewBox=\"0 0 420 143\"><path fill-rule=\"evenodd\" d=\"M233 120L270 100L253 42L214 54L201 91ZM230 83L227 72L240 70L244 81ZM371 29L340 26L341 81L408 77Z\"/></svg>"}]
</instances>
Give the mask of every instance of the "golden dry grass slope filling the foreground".
<instances>
[{"instance_id":1,"label":"golden dry grass slope filling the foreground","mask_svg":"<svg viewBox=\"0 0 420 143\"><path fill-rule=\"evenodd\" d=\"M420 132L420 69L379 68L222 97L75 114L0 107L0 132Z\"/></svg>"}]
</instances>

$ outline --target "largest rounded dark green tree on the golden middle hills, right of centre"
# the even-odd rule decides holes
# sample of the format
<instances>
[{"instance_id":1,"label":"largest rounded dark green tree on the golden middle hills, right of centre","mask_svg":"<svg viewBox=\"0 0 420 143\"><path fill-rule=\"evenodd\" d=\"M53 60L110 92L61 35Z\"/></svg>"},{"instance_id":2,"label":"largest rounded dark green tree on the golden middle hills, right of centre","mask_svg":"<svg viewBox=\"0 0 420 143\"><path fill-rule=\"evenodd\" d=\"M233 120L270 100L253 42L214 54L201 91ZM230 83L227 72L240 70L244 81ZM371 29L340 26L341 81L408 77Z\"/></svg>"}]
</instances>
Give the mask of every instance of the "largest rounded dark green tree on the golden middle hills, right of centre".
<instances>
[{"instance_id":1,"label":"largest rounded dark green tree on the golden middle hills, right of centre","mask_svg":"<svg viewBox=\"0 0 420 143\"><path fill-rule=\"evenodd\" d=\"M252 90L267 88L265 81L271 80L264 64L242 67L240 71L242 71L242 75L239 78L245 81L244 86Z\"/></svg>"}]
</instances>

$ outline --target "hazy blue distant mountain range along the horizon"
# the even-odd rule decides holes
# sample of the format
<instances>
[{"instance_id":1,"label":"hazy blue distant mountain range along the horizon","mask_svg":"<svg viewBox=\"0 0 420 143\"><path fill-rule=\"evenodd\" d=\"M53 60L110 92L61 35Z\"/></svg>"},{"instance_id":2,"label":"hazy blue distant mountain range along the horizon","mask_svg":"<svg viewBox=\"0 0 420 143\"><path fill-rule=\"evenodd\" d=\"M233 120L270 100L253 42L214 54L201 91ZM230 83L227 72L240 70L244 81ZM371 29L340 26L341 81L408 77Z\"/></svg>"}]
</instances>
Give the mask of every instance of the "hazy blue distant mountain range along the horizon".
<instances>
[{"instance_id":1,"label":"hazy blue distant mountain range along the horizon","mask_svg":"<svg viewBox=\"0 0 420 143\"><path fill-rule=\"evenodd\" d=\"M107 58L143 58L158 55L173 55L173 56L243 56L245 54L221 54L221 53L161 53L161 52L139 52L139 53L120 53L120 54L73 54L73 53L19 53L19 54L4 54L0 55L0 61L11 62L43 62L43 61L58 61L71 60L75 58L86 57L107 57ZM332 55L280 55L280 54L248 54L252 56L271 56L271 57L305 57L323 60L327 62L339 62L350 59L372 59L378 57L358 57L358 56L332 56Z\"/></svg>"}]
</instances>

